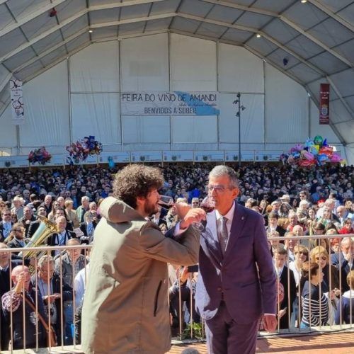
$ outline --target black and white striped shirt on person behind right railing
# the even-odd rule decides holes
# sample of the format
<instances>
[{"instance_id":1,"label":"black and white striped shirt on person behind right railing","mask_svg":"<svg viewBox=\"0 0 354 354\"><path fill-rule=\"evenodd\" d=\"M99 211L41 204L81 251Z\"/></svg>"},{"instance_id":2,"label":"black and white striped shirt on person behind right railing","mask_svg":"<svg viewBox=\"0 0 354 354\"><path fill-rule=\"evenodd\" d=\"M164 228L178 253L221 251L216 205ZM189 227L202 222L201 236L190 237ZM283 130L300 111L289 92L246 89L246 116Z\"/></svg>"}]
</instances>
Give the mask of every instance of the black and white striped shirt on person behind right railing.
<instances>
[{"instance_id":1,"label":"black and white striped shirt on person behind right railing","mask_svg":"<svg viewBox=\"0 0 354 354\"><path fill-rule=\"evenodd\" d=\"M319 286L305 282L301 299L301 321L308 326L325 326L329 319L329 302L324 292L320 294Z\"/></svg>"}]
</instances>

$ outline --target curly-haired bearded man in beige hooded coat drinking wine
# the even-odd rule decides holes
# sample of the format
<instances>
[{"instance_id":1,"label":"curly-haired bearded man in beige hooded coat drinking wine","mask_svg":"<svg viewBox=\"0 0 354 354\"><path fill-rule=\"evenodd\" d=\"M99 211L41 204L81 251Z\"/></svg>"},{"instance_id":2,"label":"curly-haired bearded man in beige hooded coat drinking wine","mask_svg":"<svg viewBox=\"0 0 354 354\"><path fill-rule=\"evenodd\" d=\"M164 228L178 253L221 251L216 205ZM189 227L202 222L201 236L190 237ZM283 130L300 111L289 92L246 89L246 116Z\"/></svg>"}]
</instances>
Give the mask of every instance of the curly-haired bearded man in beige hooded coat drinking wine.
<instances>
[{"instance_id":1,"label":"curly-haired bearded man in beige hooded coat drinking wine","mask_svg":"<svg viewBox=\"0 0 354 354\"><path fill-rule=\"evenodd\" d=\"M201 209L181 215L181 242L146 218L157 211L164 178L132 164L115 174L115 198L100 205L82 308L84 353L162 354L171 348L167 263L198 262ZM179 208L179 205L176 205Z\"/></svg>"}]
</instances>

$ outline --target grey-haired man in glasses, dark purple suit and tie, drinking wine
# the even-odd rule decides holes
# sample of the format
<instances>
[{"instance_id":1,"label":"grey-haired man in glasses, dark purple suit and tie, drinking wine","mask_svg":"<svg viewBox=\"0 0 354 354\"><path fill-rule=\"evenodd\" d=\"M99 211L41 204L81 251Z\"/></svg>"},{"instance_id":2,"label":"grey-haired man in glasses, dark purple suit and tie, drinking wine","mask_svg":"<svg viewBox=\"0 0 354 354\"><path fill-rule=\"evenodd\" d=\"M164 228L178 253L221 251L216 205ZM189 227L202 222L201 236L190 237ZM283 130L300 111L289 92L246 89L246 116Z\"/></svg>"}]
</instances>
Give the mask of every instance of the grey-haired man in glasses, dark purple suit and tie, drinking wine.
<instances>
[{"instance_id":1,"label":"grey-haired man in glasses, dark purple suit and tie, drinking wine","mask_svg":"<svg viewBox=\"0 0 354 354\"><path fill-rule=\"evenodd\" d=\"M274 331L276 281L263 217L237 204L239 181L228 166L209 174L215 210L200 237L196 306L205 319L209 353L256 352L261 315Z\"/></svg>"}]
</instances>

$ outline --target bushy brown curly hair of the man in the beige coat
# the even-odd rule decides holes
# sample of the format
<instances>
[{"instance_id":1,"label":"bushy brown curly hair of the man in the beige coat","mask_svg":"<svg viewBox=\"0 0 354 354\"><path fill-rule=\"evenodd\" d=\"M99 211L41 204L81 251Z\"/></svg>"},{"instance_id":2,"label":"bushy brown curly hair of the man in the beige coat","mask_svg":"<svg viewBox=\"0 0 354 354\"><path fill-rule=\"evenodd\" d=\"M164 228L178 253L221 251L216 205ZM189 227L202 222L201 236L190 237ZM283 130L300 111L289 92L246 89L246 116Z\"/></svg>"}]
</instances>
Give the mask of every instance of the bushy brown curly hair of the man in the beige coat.
<instances>
[{"instance_id":1,"label":"bushy brown curly hair of the man in the beige coat","mask_svg":"<svg viewBox=\"0 0 354 354\"><path fill-rule=\"evenodd\" d=\"M160 189L164 176L156 167L132 164L115 174L113 195L132 208L137 207L137 197L147 197L152 189Z\"/></svg>"}]
</instances>

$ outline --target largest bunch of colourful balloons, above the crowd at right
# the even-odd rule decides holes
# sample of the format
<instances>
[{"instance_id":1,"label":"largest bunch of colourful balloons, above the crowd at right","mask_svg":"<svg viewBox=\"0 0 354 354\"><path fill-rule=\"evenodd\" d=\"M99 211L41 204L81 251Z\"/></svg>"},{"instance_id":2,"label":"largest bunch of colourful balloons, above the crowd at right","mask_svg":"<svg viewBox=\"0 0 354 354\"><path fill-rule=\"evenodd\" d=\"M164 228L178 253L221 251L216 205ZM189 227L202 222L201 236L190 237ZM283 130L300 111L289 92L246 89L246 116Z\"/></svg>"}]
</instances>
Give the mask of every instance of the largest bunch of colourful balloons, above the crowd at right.
<instances>
[{"instance_id":1,"label":"largest bunch of colourful balloons, above the crowd at right","mask_svg":"<svg viewBox=\"0 0 354 354\"><path fill-rule=\"evenodd\" d=\"M290 165L302 167L322 166L326 163L345 164L338 152L333 152L333 147L327 144L327 139L316 135L314 139L307 139L304 145L296 144L290 149L289 154L280 155L280 161L287 161Z\"/></svg>"}]
</instances>

